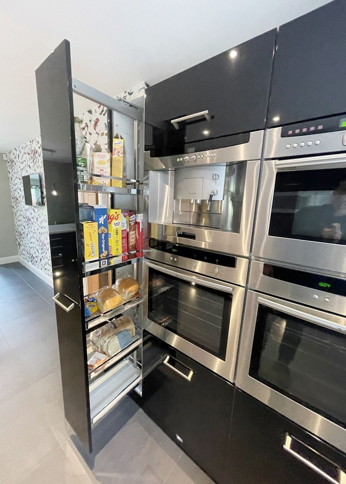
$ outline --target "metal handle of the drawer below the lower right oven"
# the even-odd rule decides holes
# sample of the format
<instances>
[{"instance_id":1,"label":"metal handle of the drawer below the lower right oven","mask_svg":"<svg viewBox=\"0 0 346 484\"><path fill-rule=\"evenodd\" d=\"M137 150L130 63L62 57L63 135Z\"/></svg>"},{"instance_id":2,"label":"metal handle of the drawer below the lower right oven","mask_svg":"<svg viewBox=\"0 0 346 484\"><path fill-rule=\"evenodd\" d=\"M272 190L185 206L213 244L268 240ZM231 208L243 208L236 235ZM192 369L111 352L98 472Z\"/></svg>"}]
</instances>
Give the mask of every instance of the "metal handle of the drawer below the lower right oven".
<instances>
[{"instance_id":1,"label":"metal handle of the drawer below the lower right oven","mask_svg":"<svg viewBox=\"0 0 346 484\"><path fill-rule=\"evenodd\" d=\"M325 469L328 469L328 467L329 467L331 469L331 471L334 470L335 477L337 477L337 479L334 479L334 477L332 477L330 474L327 474L327 472L325 472L325 470L319 469L319 467L317 467L317 465L314 464L307 457L304 457L303 455L298 454L298 452L293 450L292 444L295 444L295 443L296 444L298 443L301 446L302 449L304 449L304 448L307 449L310 452L310 454L311 453L316 454L316 456L318 456L319 459L323 459L324 463L326 464L324 466ZM324 457L321 454L319 454L318 452L316 452L314 449L312 449L308 445L304 444L304 442L301 442L301 440L295 439L294 437L286 434L284 449L286 450L286 452L289 452L289 454L293 455L296 459L300 460L303 464L308 466L310 469L315 470L315 472L317 472L317 474L319 474L320 476L327 479L327 481L329 481L333 484L345 484L346 483L346 473L339 466L337 466L336 464L331 462L329 459L327 459L326 457Z\"/></svg>"}]
</instances>

